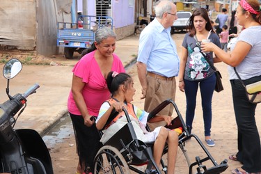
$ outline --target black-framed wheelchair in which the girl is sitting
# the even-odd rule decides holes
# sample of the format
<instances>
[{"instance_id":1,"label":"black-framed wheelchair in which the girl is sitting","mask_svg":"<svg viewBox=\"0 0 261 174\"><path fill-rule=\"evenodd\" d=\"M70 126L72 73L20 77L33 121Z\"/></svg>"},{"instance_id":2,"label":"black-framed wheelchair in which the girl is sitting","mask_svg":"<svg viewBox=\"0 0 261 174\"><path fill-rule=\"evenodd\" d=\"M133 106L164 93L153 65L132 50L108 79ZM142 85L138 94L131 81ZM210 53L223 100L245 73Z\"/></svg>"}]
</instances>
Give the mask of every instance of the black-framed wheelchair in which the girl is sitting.
<instances>
[{"instance_id":1,"label":"black-framed wheelchair in which the girl is sitting","mask_svg":"<svg viewBox=\"0 0 261 174\"><path fill-rule=\"evenodd\" d=\"M227 159L224 159L220 164L217 164L198 136L189 133L189 128L184 124L180 111L172 100L165 100L159 104L159 106L150 112L148 120L156 116L156 114L168 104L173 104L177 117L172 120L172 125L167 128L175 129L177 127L182 127L182 132L179 135L178 148L180 148L179 151L184 155L184 159L187 161L189 174L192 172L196 174L217 174L226 171L228 168ZM161 166L157 166L153 159L152 152L154 142L144 143L137 139L129 115L125 109L123 109L123 111L125 112L128 122L116 132L109 141L106 141L97 152L94 160L94 173L167 173L168 166L166 166L167 163L164 162L163 157L161 157ZM111 113L107 123L109 124L117 115L118 113ZM148 126L147 129L150 131ZM102 130L100 131L100 135L102 136ZM205 152L203 159L200 159L199 156L196 156L193 161L189 159L188 150L186 150L185 147L186 144L189 143L186 141L190 139L196 139L200 148ZM163 156L167 151L168 145L165 145ZM211 161L209 162L209 164L211 164L209 167L203 164L206 161ZM140 166L145 167L142 168ZM152 168L154 168L154 170L152 170ZM177 169L177 162L175 168Z\"/></svg>"}]
</instances>

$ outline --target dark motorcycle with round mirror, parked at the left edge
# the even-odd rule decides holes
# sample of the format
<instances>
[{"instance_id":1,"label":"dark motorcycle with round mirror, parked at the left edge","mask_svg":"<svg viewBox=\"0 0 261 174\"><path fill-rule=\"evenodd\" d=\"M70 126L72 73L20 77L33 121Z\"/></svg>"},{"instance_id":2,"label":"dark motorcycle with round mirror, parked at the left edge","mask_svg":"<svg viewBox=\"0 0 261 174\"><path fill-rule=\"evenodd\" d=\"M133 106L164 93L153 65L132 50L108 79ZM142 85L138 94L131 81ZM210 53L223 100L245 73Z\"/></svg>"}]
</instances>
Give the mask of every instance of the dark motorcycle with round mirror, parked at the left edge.
<instances>
[{"instance_id":1,"label":"dark motorcycle with round mirror, parked at the left edge","mask_svg":"<svg viewBox=\"0 0 261 174\"><path fill-rule=\"evenodd\" d=\"M9 81L21 70L22 63L16 58L10 59L3 66L9 100L0 104L0 173L53 174L49 150L40 134L33 129L14 129L17 118L26 107L26 97L36 93L40 87L35 84L25 93L11 96Z\"/></svg>"}]
</instances>

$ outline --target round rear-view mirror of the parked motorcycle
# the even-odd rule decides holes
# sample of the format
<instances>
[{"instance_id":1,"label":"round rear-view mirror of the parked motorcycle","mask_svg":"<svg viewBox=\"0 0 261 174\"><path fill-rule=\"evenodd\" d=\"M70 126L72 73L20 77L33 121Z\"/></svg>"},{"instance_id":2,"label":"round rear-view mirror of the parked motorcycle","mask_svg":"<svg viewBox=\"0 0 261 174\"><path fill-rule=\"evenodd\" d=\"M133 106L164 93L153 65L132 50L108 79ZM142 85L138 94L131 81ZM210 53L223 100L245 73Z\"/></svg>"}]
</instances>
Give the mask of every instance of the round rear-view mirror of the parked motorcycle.
<instances>
[{"instance_id":1,"label":"round rear-view mirror of the parked motorcycle","mask_svg":"<svg viewBox=\"0 0 261 174\"><path fill-rule=\"evenodd\" d=\"M12 58L3 66L3 77L13 79L21 70L22 63L17 58Z\"/></svg>"}]
</instances>

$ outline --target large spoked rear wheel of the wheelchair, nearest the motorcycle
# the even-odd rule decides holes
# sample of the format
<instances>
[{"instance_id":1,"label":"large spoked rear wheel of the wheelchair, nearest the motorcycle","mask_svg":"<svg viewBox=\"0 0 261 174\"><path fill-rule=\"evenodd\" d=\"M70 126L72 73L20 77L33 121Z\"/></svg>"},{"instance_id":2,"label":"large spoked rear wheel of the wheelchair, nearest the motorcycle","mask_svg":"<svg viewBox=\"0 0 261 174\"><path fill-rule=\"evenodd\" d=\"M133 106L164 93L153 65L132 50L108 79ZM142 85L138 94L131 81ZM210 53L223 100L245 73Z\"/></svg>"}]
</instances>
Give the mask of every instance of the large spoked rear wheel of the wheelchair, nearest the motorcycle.
<instances>
[{"instance_id":1,"label":"large spoked rear wheel of the wheelchair, nearest the motorcycle","mask_svg":"<svg viewBox=\"0 0 261 174\"><path fill-rule=\"evenodd\" d=\"M94 173L127 173L129 166L118 149L104 145L97 152L94 160Z\"/></svg>"}]
</instances>

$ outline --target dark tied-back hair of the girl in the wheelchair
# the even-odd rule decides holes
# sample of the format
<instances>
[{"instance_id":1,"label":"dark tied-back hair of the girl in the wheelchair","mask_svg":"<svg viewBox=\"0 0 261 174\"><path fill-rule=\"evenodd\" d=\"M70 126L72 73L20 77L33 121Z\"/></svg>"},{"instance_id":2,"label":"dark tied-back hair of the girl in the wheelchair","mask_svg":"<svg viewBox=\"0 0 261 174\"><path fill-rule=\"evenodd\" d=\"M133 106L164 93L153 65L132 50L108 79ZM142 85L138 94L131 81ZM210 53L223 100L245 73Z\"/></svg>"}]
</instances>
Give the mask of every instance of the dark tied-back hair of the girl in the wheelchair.
<instances>
[{"instance_id":1,"label":"dark tied-back hair of the girl in the wheelchair","mask_svg":"<svg viewBox=\"0 0 261 174\"><path fill-rule=\"evenodd\" d=\"M120 85L125 84L127 87L130 79L132 79L132 77L130 77L129 74L125 72L120 72L119 74L118 72L109 72L106 78L106 83L109 91L111 92L111 95L113 96L117 92Z\"/></svg>"}]
</instances>

